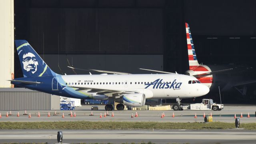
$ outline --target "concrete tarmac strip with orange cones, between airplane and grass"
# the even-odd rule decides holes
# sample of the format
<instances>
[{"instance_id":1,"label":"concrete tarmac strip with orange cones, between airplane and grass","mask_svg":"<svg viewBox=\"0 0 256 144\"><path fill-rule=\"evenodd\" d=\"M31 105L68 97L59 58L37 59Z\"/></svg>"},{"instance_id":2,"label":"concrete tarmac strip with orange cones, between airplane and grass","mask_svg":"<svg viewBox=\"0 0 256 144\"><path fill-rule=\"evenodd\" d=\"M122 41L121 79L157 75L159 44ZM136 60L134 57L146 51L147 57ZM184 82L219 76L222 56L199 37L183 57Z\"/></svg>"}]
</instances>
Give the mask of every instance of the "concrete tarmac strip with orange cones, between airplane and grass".
<instances>
[{"instance_id":1,"label":"concrete tarmac strip with orange cones, between airplane and grass","mask_svg":"<svg viewBox=\"0 0 256 144\"><path fill-rule=\"evenodd\" d=\"M183 111L174 111L174 110L114 110L109 111L107 116L104 118L104 105L99 105L98 111L92 111L94 116L89 116L91 113L91 106L94 105L85 105L82 107L76 107L75 110L72 110L72 113L76 112L76 117L70 117L69 110L57 110L57 116L53 116L55 110L49 111L27 111L27 114L31 114L32 118L28 118L28 115L23 115L24 110L22 111L12 111L12 116L6 117L6 112L10 111L0 111L2 118L0 122L55 122L55 121L117 121L117 122L204 122L203 114L206 116L212 113L214 122L234 122L234 114L240 118L242 112L243 118L240 118L241 123L256 122L255 111L256 106L224 106L224 109L221 111L197 111L197 110L183 110ZM17 117L17 113L20 113L20 116ZM38 117L38 112L40 112L40 117ZM50 117L47 116L50 112ZM114 112L114 117L111 117L112 112ZM131 118L131 114L135 116L135 113L138 112L139 116L137 118ZM165 118L161 118L161 114L164 112L166 115ZM247 118L248 112L250 113L250 118ZM64 118L62 114L64 113ZM102 118L100 118L100 113ZM174 118L172 114L174 113ZM198 118L194 118L194 115L197 114Z\"/></svg>"}]
</instances>

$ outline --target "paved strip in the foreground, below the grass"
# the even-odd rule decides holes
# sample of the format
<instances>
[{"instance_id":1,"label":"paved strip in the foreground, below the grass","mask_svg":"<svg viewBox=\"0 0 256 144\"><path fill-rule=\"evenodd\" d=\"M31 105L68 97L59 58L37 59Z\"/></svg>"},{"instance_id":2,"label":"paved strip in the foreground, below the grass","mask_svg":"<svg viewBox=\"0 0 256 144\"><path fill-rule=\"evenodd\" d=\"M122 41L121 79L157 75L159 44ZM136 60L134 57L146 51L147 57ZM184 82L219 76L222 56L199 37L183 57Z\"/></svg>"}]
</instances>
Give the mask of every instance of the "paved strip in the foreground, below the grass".
<instances>
[{"instance_id":1,"label":"paved strip in the foreground, below the grass","mask_svg":"<svg viewBox=\"0 0 256 144\"><path fill-rule=\"evenodd\" d=\"M255 144L256 132L232 130L0 130L0 143L57 143L57 131L63 132L63 143L140 143L157 144Z\"/></svg>"}]
</instances>

